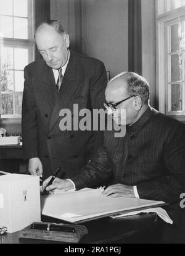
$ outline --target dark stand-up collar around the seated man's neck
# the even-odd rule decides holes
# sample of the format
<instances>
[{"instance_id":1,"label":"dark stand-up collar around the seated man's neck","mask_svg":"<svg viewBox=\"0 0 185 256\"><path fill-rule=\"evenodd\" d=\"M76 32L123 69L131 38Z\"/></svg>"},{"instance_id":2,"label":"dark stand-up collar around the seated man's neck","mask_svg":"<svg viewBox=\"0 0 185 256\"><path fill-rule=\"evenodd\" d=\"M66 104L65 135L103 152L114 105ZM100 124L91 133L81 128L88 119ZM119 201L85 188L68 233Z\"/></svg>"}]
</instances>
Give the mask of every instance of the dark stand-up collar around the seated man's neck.
<instances>
[{"instance_id":1,"label":"dark stand-up collar around the seated man's neck","mask_svg":"<svg viewBox=\"0 0 185 256\"><path fill-rule=\"evenodd\" d=\"M141 127L148 121L149 117L152 115L152 108L150 105L147 107L146 111L142 114L142 116L131 126L126 126L126 130L131 133L137 132Z\"/></svg>"}]
</instances>

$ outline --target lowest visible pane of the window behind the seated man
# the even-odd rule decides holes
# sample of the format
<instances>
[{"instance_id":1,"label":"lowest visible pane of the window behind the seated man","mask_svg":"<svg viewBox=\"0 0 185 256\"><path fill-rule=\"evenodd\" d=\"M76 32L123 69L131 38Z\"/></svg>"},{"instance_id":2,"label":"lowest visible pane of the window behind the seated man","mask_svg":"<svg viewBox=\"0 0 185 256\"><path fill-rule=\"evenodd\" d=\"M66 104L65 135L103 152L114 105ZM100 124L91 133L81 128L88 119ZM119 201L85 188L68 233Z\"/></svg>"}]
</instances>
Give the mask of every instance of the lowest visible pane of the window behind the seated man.
<instances>
[{"instance_id":1,"label":"lowest visible pane of the window behind the seated man","mask_svg":"<svg viewBox=\"0 0 185 256\"><path fill-rule=\"evenodd\" d=\"M183 110L183 90L182 84L171 85L171 111Z\"/></svg>"}]
</instances>

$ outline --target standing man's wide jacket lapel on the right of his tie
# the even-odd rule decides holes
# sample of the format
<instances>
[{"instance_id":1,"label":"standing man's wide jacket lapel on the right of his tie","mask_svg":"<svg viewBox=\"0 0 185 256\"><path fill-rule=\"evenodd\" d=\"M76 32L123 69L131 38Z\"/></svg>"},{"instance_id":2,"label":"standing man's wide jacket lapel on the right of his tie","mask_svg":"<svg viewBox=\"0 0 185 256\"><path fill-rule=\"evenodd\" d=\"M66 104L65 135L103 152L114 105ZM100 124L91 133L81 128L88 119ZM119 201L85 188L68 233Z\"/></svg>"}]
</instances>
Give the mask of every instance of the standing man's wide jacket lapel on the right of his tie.
<instances>
[{"instance_id":1,"label":"standing man's wide jacket lapel on the right of his tie","mask_svg":"<svg viewBox=\"0 0 185 256\"><path fill-rule=\"evenodd\" d=\"M55 122L57 122L57 119L59 119L60 110L67 106L70 98L72 98L79 84L79 76L76 74L75 54L70 52L70 59L68 61L67 69L65 70L62 85L59 93L57 94L55 106L51 114L49 131L52 129L52 127L54 127Z\"/></svg>"}]
</instances>

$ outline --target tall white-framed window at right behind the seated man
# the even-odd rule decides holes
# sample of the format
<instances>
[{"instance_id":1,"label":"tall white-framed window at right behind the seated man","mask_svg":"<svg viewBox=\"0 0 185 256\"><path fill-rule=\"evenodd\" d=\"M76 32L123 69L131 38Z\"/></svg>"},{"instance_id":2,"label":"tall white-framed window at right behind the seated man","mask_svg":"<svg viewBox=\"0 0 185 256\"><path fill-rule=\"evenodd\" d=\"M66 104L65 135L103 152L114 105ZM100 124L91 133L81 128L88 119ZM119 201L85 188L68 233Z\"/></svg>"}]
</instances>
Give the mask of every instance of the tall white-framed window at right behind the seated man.
<instances>
[{"instance_id":1,"label":"tall white-framed window at right behind the seated man","mask_svg":"<svg viewBox=\"0 0 185 256\"><path fill-rule=\"evenodd\" d=\"M185 121L185 1L158 0L159 110Z\"/></svg>"}]
</instances>

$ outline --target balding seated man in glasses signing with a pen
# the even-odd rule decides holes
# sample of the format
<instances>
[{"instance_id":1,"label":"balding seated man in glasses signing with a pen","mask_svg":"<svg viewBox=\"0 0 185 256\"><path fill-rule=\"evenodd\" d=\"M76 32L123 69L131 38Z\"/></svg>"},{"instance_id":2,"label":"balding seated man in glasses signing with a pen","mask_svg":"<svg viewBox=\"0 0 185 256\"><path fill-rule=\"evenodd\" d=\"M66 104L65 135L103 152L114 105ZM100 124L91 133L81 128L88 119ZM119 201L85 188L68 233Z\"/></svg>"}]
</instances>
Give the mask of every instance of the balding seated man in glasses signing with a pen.
<instances>
[{"instance_id":1,"label":"balding seated man in glasses signing with a pen","mask_svg":"<svg viewBox=\"0 0 185 256\"><path fill-rule=\"evenodd\" d=\"M114 77L105 90L108 114L123 124L117 109L126 111L122 138L105 130L104 145L71 180L55 179L43 189L82 189L103 185L113 174L105 196L138 197L177 203L185 192L185 126L149 105L149 84L132 72ZM118 114L117 114L118 112ZM115 113L115 114L113 114Z\"/></svg>"}]
</instances>

